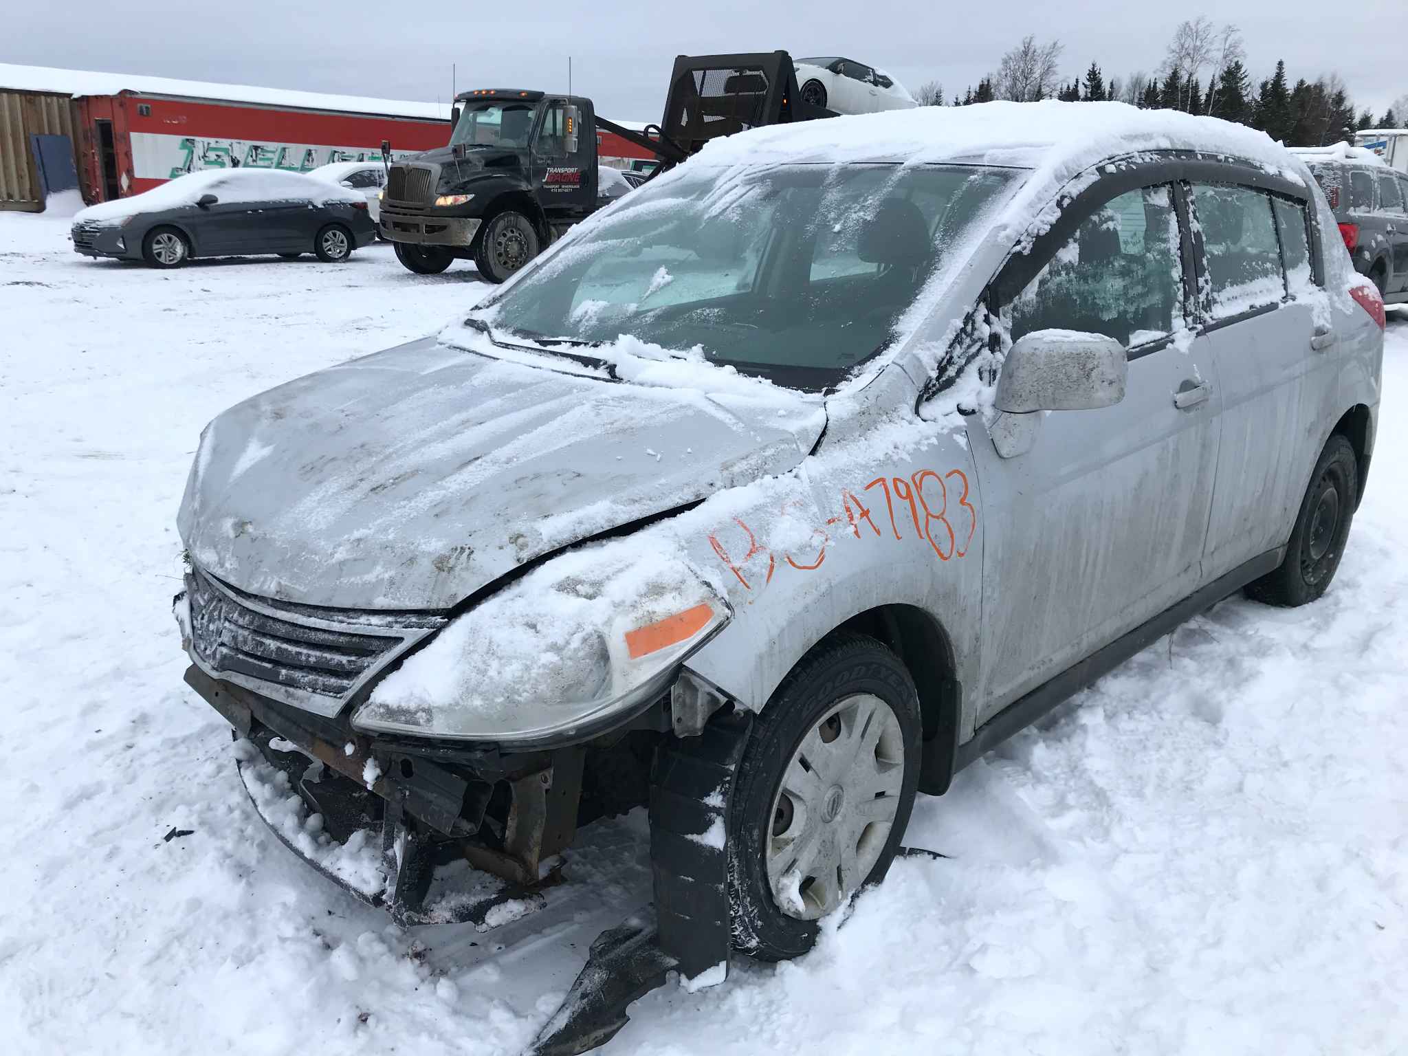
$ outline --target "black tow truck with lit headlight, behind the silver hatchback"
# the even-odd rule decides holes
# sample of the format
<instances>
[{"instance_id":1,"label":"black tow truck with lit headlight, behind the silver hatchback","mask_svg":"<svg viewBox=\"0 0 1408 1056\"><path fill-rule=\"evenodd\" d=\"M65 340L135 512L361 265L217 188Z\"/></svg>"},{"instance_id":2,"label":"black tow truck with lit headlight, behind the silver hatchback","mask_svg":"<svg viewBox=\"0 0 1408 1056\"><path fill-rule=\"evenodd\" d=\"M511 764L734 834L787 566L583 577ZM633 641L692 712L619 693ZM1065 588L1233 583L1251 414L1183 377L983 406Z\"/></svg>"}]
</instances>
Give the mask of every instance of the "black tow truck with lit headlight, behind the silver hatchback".
<instances>
[{"instance_id":1,"label":"black tow truck with lit headlight, behind the silver hatchback","mask_svg":"<svg viewBox=\"0 0 1408 1056\"><path fill-rule=\"evenodd\" d=\"M391 165L391 145L382 144L389 170L380 232L418 275L473 260L484 279L501 283L608 204L597 193L598 131L653 152L653 176L717 137L815 117L832 113L800 99L784 51L677 56L665 117L643 132L598 117L583 96L463 92L449 145Z\"/></svg>"}]
</instances>

